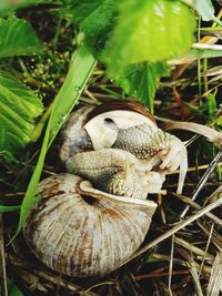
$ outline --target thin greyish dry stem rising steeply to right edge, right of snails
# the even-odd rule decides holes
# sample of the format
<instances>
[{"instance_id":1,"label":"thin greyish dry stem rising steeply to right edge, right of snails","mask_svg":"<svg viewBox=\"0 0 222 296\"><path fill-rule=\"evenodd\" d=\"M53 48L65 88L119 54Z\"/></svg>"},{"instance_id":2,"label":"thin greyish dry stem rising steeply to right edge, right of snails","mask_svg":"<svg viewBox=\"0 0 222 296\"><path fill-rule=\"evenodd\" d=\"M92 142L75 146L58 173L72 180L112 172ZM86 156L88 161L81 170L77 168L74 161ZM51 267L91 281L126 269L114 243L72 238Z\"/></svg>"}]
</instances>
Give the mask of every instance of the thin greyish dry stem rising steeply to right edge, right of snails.
<instances>
[{"instance_id":1,"label":"thin greyish dry stem rising steeply to right edge, right of snails","mask_svg":"<svg viewBox=\"0 0 222 296\"><path fill-rule=\"evenodd\" d=\"M195 201L195 198L198 197L199 193L203 188L205 182L208 181L209 175L215 170L216 164L220 162L221 157L222 157L222 151L219 151L219 153L212 160L212 162L210 163L208 170L205 171L205 173L203 174L203 176L199 181L195 190L192 193L193 196L192 196L191 201ZM185 214L188 213L189 208L190 208L190 205L186 205L186 207L181 213L180 218L183 218L185 216Z\"/></svg>"}]
</instances>

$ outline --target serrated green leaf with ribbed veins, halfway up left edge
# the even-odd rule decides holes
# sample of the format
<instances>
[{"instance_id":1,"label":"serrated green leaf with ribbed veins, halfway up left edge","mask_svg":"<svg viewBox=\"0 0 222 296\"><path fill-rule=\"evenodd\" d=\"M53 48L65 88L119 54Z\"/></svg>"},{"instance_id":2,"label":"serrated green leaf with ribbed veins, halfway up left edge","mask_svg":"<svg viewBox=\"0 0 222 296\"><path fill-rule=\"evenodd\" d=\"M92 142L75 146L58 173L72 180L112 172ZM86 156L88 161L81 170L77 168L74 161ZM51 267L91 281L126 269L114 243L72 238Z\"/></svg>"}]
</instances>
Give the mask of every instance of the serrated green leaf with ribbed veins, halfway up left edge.
<instances>
[{"instance_id":1,"label":"serrated green leaf with ribbed veins, halfway up left edge","mask_svg":"<svg viewBox=\"0 0 222 296\"><path fill-rule=\"evenodd\" d=\"M42 103L17 79L0 71L0 151L17 152L24 147L34 127L33 119Z\"/></svg>"}]
</instances>

